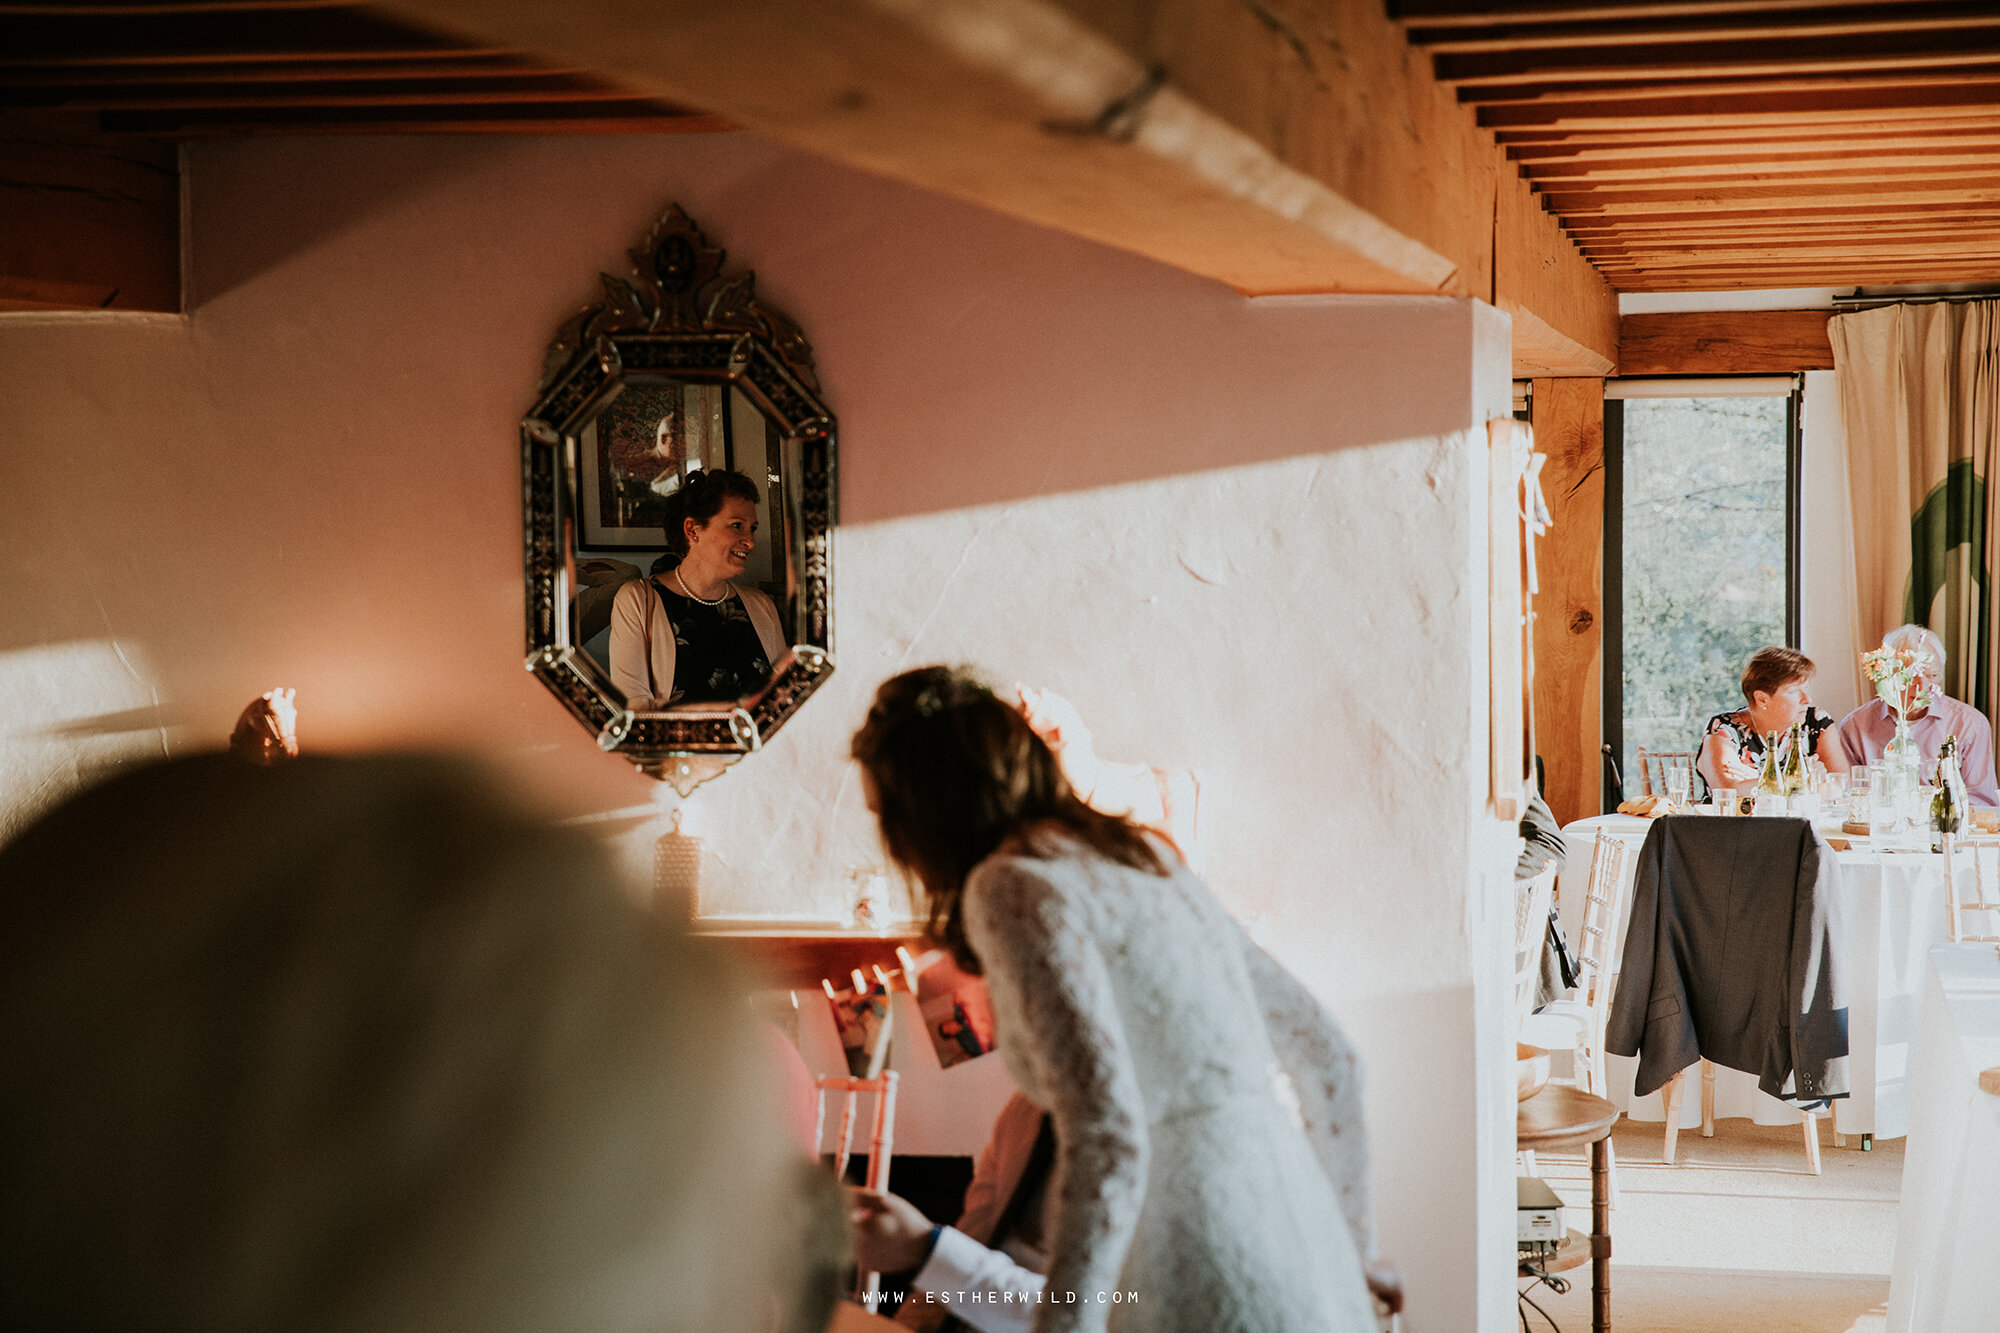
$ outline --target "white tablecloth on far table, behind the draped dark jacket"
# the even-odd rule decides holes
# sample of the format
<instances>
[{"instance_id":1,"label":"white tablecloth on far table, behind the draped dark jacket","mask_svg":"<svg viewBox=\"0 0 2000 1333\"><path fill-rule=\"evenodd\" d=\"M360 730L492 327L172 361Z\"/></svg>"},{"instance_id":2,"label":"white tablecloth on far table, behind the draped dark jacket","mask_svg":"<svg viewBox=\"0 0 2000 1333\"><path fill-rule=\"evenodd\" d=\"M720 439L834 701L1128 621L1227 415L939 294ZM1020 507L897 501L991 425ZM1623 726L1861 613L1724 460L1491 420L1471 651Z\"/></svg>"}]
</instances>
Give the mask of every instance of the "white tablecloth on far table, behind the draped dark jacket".
<instances>
[{"instance_id":1,"label":"white tablecloth on far table, behind the draped dark jacket","mask_svg":"<svg viewBox=\"0 0 2000 1333\"><path fill-rule=\"evenodd\" d=\"M1598 815L1564 827L1568 857L1558 881L1562 929L1580 947L1584 891L1590 883L1590 849L1598 831L1624 839L1636 853L1652 821L1632 815ZM1848 1075L1852 1093L1834 1101L1834 1129L1844 1135L1900 1139L1910 1127L1910 1049L1916 1041L1924 959L1944 943L1944 859L1910 853L1834 853L1840 879L1828 911L1834 967L1848 991ZM1960 867L1960 877L1970 875ZM1632 915L1626 893L1614 953L1624 951ZM1610 1057L1612 1103L1634 1121L1664 1121L1662 1093L1632 1097L1638 1061ZM1682 1129L1702 1123L1700 1087L1692 1081L1680 1107ZM1746 1117L1758 1125L1796 1125L1798 1111L1758 1091L1756 1077L1716 1069L1716 1117Z\"/></svg>"}]
</instances>

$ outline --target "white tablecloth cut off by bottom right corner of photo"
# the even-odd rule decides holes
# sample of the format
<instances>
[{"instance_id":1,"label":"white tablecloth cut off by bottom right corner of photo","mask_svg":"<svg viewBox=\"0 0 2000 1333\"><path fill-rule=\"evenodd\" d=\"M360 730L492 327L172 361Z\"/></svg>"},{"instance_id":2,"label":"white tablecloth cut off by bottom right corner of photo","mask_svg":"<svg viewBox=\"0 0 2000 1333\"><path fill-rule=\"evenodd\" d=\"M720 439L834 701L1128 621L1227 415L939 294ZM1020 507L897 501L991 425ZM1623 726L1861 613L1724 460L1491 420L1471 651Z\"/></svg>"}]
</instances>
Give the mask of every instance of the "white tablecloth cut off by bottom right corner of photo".
<instances>
[{"instance_id":1,"label":"white tablecloth cut off by bottom right corner of photo","mask_svg":"<svg viewBox=\"0 0 2000 1333\"><path fill-rule=\"evenodd\" d=\"M1930 951L1910 1095L1910 1149L1888 1283L1892 1333L2000 1327L2000 953Z\"/></svg>"}]
</instances>

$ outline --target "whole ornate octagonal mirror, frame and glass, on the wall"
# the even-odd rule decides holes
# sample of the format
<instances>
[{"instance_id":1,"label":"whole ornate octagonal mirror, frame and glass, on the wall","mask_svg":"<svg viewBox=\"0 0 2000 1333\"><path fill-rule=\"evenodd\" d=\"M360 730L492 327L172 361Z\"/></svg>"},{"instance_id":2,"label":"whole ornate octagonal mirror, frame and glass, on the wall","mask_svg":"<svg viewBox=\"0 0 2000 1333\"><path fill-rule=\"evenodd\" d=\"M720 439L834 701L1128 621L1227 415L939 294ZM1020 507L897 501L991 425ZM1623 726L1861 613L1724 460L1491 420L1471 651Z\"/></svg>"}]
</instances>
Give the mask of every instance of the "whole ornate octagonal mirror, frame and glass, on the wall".
<instances>
[{"instance_id":1,"label":"whole ornate octagonal mirror, frame and glass, on the wall","mask_svg":"<svg viewBox=\"0 0 2000 1333\"><path fill-rule=\"evenodd\" d=\"M634 280L602 274L604 300L556 332L520 422L528 671L602 749L686 793L762 747L834 671L834 416L804 334L756 298L756 274L724 274L724 252L678 204L630 254ZM690 504L720 470L740 474L710 520L736 532L730 580L698 580L702 594L678 580L668 532L698 470ZM722 697L686 689L688 662L720 642L704 634L752 630L740 642L768 644L746 658L754 669L710 677L728 681ZM632 687L638 662L656 697L618 687L614 636L616 677ZM658 642L666 662L680 646L672 689L640 646Z\"/></svg>"}]
</instances>

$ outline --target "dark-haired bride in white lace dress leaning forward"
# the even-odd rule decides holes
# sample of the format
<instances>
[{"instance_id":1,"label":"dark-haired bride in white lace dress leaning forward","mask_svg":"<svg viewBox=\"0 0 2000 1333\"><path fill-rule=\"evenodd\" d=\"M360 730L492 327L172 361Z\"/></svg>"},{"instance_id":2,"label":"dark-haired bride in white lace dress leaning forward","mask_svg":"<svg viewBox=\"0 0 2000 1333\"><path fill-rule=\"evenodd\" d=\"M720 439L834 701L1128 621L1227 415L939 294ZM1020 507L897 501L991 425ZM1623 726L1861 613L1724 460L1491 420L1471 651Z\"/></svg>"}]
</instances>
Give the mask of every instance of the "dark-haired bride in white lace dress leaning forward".
<instances>
[{"instance_id":1,"label":"dark-haired bride in white lace dress leaning forward","mask_svg":"<svg viewBox=\"0 0 2000 1333\"><path fill-rule=\"evenodd\" d=\"M1360 1077L1312 995L978 683L894 677L854 759L1054 1119L1036 1333L1372 1333Z\"/></svg>"}]
</instances>

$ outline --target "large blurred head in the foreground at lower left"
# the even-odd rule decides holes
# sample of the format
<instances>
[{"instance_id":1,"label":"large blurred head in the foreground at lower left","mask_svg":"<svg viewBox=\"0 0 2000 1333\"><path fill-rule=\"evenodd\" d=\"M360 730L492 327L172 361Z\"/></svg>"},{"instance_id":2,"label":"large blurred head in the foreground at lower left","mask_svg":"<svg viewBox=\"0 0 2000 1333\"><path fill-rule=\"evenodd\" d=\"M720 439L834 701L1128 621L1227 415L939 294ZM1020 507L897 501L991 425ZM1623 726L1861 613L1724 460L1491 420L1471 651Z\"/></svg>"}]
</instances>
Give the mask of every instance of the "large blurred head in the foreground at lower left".
<instances>
[{"instance_id":1,"label":"large blurred head in the foreground at lower left","mask_svg":"<svg viewBox=\"0 0 2000 1333\"><path fill-rule=\"evenodd\" d=\"M0 1325L770 1329L756 1049L466 767L128 773L0 849Z\"/></svg>"}]
</instances>

